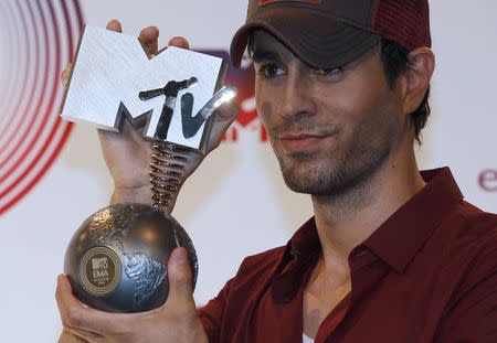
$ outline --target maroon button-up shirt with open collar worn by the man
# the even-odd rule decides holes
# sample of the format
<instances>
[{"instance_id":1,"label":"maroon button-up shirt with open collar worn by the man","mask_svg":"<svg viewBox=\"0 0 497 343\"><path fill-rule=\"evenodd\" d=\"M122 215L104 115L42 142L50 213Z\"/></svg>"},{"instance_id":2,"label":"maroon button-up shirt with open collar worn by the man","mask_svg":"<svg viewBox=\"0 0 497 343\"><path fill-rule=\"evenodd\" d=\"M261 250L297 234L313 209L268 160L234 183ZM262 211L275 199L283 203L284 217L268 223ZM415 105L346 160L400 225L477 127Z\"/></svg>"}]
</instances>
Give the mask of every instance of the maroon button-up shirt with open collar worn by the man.
<instances>
[{"instance_id":1,"label":"maroon button-up shirt with open collar worn by the man","mask_svg":"<svg viewBox=\"0 0 497 343\"><path fill-rule=\"evenodd\" d=\"M497 343L497 215L463 201L448 168L349 256L351 292L316 342ZM320 256L314 219L245 258L199 310L210 342L302 342L303 293Z\"/></svg>"}]
</instances>

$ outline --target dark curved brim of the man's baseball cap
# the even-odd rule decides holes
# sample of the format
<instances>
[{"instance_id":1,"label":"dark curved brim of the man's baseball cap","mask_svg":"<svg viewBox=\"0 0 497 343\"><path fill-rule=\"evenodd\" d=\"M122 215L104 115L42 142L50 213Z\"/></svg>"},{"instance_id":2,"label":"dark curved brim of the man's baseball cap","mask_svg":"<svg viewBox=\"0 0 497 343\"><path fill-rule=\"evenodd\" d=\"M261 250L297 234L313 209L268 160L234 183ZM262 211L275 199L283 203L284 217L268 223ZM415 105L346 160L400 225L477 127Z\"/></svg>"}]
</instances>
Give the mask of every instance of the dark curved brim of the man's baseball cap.
<instances>
[{"instance_id":1,"label":"dark curved brim of the man's baseball cap","mask_svg":"<svg viewBox=\"0 0 497 343\"><path fill-rule=\"evenodd\" d=\"M381 36L302 9L272 9L252 18L234 35L230 58L239 67L253 31L265 30L306 64L334 68L360 57Z\"/></svg>"}]
</instances>

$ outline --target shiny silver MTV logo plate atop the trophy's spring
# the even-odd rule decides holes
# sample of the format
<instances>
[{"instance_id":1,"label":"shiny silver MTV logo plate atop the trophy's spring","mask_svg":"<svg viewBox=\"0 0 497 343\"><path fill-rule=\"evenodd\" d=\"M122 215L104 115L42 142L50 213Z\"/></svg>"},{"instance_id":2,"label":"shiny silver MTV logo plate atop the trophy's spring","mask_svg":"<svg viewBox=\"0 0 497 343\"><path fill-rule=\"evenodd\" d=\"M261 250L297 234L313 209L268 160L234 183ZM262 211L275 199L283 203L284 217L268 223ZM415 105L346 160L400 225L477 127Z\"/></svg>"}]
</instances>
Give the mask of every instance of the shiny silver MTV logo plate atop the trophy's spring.
<instances>
[{"instance_id":1,"label":"shiny silver MTV logo plate atop the trophy's spring","mask_svg":"<svg viewBox=\"0 0 497 343\"><path fill-rule=\"evenodd\" d=\"M202 150L211 115L236 94L221 88L222 58L169 46L149 58L138 39L85 26L62 118L120 131L127 118L145 138Z\"/></svg>"}]
</instances>

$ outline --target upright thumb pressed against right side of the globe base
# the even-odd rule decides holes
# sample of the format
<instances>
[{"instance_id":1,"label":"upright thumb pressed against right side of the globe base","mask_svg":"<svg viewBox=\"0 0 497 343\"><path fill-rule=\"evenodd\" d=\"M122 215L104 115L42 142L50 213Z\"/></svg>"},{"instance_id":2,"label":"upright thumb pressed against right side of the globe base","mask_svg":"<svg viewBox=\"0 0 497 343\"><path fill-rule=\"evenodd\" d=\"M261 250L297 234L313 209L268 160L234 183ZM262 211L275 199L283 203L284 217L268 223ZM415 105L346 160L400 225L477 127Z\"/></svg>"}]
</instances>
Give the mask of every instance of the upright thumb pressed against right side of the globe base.
<instances>
[{"instance_id":1,"label":"upright thumb pressed against right side of the globe base","mask_svg":"<svg viewBox=\"0 0 497 343\"><path fill-rule=\"evenodd\" d=\"M166 303L176 310L195 310L192 289L192 272L188 253L183 247L172 250L168 261L169 294Z\"/></svg>"}]
</instances>

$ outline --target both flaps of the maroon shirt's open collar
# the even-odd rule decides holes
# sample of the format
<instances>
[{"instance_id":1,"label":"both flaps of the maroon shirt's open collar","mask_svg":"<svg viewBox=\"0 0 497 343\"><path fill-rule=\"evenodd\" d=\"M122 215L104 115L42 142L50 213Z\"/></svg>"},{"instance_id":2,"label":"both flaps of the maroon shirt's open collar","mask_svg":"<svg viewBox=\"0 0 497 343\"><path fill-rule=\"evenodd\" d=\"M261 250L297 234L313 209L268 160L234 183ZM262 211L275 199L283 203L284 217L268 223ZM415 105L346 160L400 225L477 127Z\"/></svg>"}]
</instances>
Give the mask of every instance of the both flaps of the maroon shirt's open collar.
<instances>
[{"instance_id":1,"label":"both flaps of the maroon shirt's open collar","mask_svg":"<svg viewBox=\"0 0 497 343\"><path fill-rule=\"evenodd\" d=\"M451 208L463 200L448 168L422 171L426 185L352 250L369 248L385 264L402 272ZM286 245L274 269L273 297L288 302L302 288L321 254L313 218L307 221Z\"/></svg>"}]
</instances>

